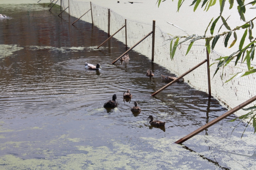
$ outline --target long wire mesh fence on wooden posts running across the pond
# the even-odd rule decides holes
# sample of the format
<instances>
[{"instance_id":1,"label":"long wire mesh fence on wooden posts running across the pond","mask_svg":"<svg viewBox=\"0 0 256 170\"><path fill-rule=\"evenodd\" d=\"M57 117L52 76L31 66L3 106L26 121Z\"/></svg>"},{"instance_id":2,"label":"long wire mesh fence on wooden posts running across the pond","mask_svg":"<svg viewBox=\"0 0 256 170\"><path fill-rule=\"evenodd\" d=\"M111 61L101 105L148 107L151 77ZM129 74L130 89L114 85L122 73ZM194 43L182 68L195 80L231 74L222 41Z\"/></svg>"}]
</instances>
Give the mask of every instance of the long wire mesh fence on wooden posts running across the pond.
<instances>
[{"instance_id":1,"label":"long wire mesh fence on wooden posts running across the pond","mask_svg":"<svg viewBox=\"0 0 256 170\"><path fill-rule=\"evenodd\" d=\"M212 50L207 60L209 63L198 65L202 62L205 63L207 59L207 52L203 43L195 42L186 56L185 54L189 43L180 44L176 49L173 60L171 60L170 43L168 43L168 39L171 37L169 34L164 33L158 26L153 26L154 23L148 24L131 20L117 14L111 9L90 2L74 0L59 0L57 2L57 0L55 0L54 3L61 5L61 8L65 10L68 9L66 11L69 15L98 26L101 30L108 33L108 36L114 35L117 40L123 42L128 48L136 44L136 47L133 48L134 51L145 55L149 59L153 59L154 63L164 66L178 76L186 73L197 65L198 67L196 69L184 76L185 81L192 87L203 92L209 92L209 90L211 90L211 96L218 99L223 105L228 107L228 109L236 108L238 105L246 103L247 100L250 100L256 95L255 74L250 74L239 79L234 78L225 83L233 76L232 74L247 69L246 64L240 63L235 67L234 63L230 62L229 66L226 66L224 70L220 69L213 77L217 67L217 64L213 63L216 63L215 60L223 55ZM75 24L75 22L72 24ZM154 36L152 28L153 30L155 28ZM143 41L137 44L142 39ZM154 39L154 41L152 41L152 39ZM152 48L152 46L155 46L155 48ZM124 52L126 50L127 48L124 48ZM252 65L256 65L255 62L251 63ZM210 69L207 68L209 64L213 64ZM208 84L209 75L211 80L210 85ZM211 89L208 88L209 86L211 86ZM246 104L248 104L248 102ZM248 107L253 106L253 104L255 104L255 102L249 104ZM235 114L240 116L245 113L244 110L239 109L236 110Z\"/></svg>"}]
</instances>

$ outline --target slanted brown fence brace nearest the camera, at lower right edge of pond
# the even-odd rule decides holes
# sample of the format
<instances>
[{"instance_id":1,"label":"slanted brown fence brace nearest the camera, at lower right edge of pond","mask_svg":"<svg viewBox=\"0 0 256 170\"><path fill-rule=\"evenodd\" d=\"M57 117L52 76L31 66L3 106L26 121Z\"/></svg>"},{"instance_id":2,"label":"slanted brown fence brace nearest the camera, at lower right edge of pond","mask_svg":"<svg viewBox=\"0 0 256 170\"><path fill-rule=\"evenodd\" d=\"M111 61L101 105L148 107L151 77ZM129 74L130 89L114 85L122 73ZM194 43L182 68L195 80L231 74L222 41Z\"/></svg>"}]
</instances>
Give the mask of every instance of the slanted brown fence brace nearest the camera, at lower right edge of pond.
<instances>
[{"instance_id":1,"label":"slanted brown fence brace nearest the camera, at lower right edge of pond","mask_svg":"<svg viewBox=\"0 0 256 170\"><path fill-rule=\"evenodd\" d=\"M240 110L241 108L247 106L248 104L252 103L253 101L256 100L256 96L252 97L251 99L249 100L246 100L244 103L236 106L235 108L229 110L228 112L226 112L225 114L217 117L216 119L212 120L211 122L205 124L204 126L202 126L201 128L198 128L197 130L195 130L194 132L188 134L187 136L177 140L175 143L176 144L181 144L183 142L185 142L186 140L190 139L191 137L197 135L198 133L202 132L203 130L209 128L210 126L214 125L215 123L217 122L220 122L222 119L228 117L229 115L235 113L236 111Z\"/></svg>"}]
</instances>

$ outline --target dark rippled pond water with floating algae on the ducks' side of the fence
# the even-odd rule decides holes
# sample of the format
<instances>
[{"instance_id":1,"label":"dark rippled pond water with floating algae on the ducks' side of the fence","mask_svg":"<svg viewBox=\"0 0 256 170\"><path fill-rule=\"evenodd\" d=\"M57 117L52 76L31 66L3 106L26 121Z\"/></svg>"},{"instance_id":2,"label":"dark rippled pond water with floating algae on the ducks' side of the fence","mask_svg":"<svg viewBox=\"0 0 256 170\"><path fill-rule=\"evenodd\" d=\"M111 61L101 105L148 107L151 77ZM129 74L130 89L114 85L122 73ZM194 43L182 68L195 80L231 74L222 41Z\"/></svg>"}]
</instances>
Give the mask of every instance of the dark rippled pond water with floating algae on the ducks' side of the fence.
<instances>
[{"instance_id":1,"label":"dark rippled pond water with floating algae on the ducks' side of the fence","mask_svg":"<svg viewBox=\"0 0 256 170\"><path fill-rule=\"evenodd\" d=\"M47 5L0 7L10 17L0 19L1 169L229 169L235 165L227 163L217 148L227 139L240 139L238 132L231 135L233 126L227 120L232 116L184 145L174 144L227 111L217 100L208 100L206 93L186 82L150 97L166 85L161 74L174 74L134 51L129 61L112 65L125 51L123 43L113 38L96 49L107 33L84 21L72 26L76 18L65 12L58 17L59 6L49 12ZM85 70L85 62L100 63L102 69ZM147 69L155 76L146 77ZM127 89L131 100L123 99ZM113 94L118 107L104 108ZM134 101L142 109L140 114L130 111ZM150 126L148 115L165 121L165 127ZM215 149L209 141L215 142ZM254 144L247 146L239 153L252 155Z\"/></svg>"}]
</instances>

